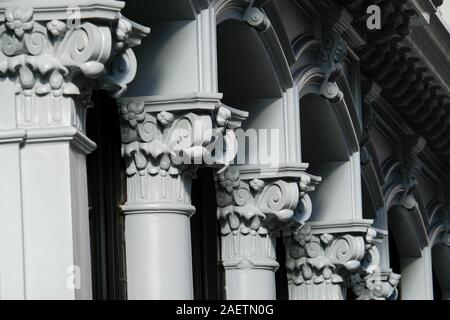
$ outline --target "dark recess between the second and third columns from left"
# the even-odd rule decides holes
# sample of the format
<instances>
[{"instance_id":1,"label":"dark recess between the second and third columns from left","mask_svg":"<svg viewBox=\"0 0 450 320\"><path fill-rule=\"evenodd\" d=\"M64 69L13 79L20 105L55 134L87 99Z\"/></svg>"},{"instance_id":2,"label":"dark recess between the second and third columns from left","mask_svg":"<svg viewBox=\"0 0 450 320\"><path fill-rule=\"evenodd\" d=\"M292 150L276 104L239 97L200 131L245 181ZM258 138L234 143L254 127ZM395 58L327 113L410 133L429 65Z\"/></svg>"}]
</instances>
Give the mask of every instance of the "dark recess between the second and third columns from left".
<instances>
[{"instance_id":1,"label":"dark recess between the second and third columns from left","mask_svg":"<svg viewBox=\"0 0 450 320\"><path fill-rule=\"evenodd\" d=\"M214 176L211 169L199 169L192 182L191 218L192 267L195 299L219 299L218 223Z\"/></svg>"}]
</instances>

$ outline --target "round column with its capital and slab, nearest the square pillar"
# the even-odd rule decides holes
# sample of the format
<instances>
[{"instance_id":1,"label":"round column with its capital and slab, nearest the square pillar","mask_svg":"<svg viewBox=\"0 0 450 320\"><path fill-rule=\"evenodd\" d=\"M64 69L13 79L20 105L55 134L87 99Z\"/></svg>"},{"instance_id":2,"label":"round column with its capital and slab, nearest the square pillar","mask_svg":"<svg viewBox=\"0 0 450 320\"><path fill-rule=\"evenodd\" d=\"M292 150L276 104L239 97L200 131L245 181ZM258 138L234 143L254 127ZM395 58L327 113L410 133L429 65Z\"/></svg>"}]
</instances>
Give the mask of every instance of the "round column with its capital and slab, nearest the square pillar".
<instances>
[{"instance_id":1,"label":"round column with its capital and slab, nearest the square pillar","mask_svg":"<svg viewBox=\"0 0 450 320\"><path fill-rule=\"evenodd\" d=\"M121 101L129 299L193 299L192 175L199 165L223 166L211 156L213 150L219 154L213 138L218 142L247 116L220 98L190 94Z\"/></svg>"}]
</instances>

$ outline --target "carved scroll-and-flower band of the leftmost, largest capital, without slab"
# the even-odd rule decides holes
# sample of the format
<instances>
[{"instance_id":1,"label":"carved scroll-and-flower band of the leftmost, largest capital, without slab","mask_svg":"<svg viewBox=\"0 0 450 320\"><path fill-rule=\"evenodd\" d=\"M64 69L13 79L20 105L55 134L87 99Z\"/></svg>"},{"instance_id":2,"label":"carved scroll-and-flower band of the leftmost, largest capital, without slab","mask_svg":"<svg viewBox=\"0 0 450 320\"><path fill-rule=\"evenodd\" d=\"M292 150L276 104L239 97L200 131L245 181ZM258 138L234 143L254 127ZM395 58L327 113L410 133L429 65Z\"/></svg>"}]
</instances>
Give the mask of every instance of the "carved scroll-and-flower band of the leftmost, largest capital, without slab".
<instances>
[{"instance_id":1,"label":"carved scroll-and-flower band of the leftmost, largest capital, without slab","mask_svg":"<svg viewBox=\"0 0 450 320\"><path fill-rule=\"evenodd\" d=\"M82 20L69 27L62 20L35 21L33 16L33 8L7 8L0 26L0 76L17 76L16 93L78 96L98 87L118 96L125 91L135 67L127 45L130 21ZM142 37L148 32L143 28Z\"/></svg>"}]
</instances>

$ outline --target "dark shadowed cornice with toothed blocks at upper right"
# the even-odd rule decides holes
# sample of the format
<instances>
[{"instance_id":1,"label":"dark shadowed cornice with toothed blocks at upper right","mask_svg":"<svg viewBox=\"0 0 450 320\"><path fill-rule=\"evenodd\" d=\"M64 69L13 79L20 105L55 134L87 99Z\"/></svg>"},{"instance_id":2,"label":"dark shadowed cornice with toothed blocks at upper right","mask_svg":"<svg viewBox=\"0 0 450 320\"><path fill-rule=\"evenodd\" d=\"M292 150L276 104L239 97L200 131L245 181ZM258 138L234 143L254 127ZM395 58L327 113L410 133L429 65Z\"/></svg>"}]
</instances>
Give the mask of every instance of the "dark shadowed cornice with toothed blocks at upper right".
<instances>
[{"instance_id":1,"label":"dark shadowed cornice with toothed blocks at upper right","mask_svg":"<svg viewBox=\"0 0 450 320\"><path fill-rule=\"evenodd\" d=\"M411 34L417 21L423 22L424 10L419 9L415 1L403 1L385 2L381 14L386 19L382 19L380 30L371 31L367 28L367 16L361 15L367 7L364 2L338 0L338 3L348 8L355 17L355 28L367 40L363 46L353 46L362 71L380 85L384 100L423 135L429 148L448 164L448 81L442 79L445 75L436 67L441 57L446 56L442 51L445 46L440 41L446 39L445 28L436 20ZM428 43L424 39L432 41ZM420 54L425 48L433 52L436 49L433 58L426 62Z\"/></svg>"}]
</instances>

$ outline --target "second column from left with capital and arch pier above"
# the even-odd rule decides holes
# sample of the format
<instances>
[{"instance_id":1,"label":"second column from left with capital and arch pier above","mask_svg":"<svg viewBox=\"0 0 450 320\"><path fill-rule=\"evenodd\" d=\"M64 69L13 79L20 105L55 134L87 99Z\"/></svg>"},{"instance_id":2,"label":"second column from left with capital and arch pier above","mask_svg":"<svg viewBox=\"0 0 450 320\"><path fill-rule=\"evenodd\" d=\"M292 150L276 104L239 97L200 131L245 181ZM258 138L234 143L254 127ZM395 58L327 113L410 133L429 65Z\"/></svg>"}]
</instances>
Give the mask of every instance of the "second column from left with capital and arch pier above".
<instances>
[{"instance_id":1,"label":"second column from left with capital and arch pier above","mask_svg":"<svg viewBox=\"0 0 450 320\"><path fill-rule=\"evenodd\" d=\"M152 21L154 36L137 51L151 61L120 101L129 299L193 299L192 176L213 135L246 116L221 108L214 8L189 3L191 20Z\"/></svg>"}]
</instances>

